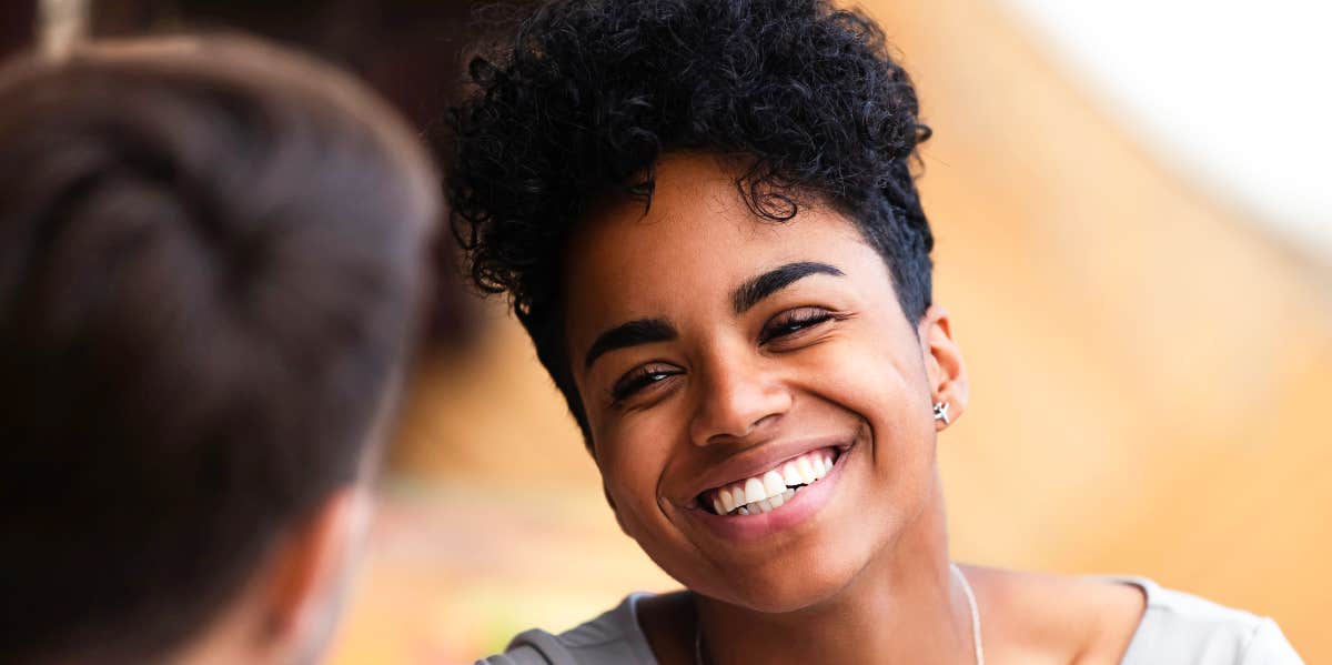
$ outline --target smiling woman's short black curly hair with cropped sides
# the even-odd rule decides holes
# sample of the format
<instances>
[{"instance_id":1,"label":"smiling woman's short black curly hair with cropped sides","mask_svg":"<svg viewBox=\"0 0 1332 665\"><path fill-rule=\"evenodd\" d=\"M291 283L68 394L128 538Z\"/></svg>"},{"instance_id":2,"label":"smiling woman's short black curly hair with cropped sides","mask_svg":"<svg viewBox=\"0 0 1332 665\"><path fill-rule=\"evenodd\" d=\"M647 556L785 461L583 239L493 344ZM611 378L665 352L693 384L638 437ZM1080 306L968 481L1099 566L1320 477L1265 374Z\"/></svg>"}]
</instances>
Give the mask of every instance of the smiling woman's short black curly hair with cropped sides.
<instances>
[{"instance_id":1,"label":"smiling woman's short black curly hair with cropped sides","mask_svg":"<svg viewBox=\"0 0 1332 665\"><path fill-rule=\"evenodd\" d=\"M507 292L591 445L570 374L561 271L570 231L611 195L651 203L669 152L739 157L755 216L805 196L887 261L904 315L930 305L934 237L911 161L930 136L883 31L826 0L565 0L474 57L449 115L452 223L473 281Z\"/></svg>"}]
</instances>

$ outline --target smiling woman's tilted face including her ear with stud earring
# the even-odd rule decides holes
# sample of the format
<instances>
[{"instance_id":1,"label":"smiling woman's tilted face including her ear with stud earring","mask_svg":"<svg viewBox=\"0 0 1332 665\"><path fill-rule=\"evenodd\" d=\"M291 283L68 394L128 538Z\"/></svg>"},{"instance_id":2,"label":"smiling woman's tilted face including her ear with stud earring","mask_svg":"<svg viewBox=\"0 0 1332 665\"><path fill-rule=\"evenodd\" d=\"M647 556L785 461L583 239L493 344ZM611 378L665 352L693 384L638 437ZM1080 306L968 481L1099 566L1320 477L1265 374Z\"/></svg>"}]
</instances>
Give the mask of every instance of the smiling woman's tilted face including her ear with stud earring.
<instances>
[{"instance_id":1,"label":"smiling woman's tilted face including her ear with stud earring","mask_svg":"<svg viewBox=\"0 0 1332 665\"><path fill-rule=\"evenodd\" d=\"M789 612L935 505L931 405L956 416L964 380L947 320L903 316L844 216L761 220L734 179L669 156L646 215L625 201L579 228L569 350L625 532L698 593Z\"/></svg>"}]
</instances>

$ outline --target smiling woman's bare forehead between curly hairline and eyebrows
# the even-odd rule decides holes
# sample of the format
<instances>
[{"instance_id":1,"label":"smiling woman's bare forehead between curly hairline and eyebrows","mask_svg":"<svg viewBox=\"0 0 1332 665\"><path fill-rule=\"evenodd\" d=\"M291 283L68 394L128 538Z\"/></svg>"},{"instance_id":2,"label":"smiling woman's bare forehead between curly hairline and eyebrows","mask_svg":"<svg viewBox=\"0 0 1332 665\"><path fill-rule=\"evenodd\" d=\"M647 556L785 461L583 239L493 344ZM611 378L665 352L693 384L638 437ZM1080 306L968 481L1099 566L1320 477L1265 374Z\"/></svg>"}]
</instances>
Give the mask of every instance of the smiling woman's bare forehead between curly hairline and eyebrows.
<instances>
[{"instance_id":1,"label":"smiling woman's bare forehead between curly hairline and eyebrows","mask_svg":"<svg viewBox=\"0 0 1332 665\"><path fill-rule=\"evenodd\" d=\"M878 261L854 224L829 207L802 204L786 221L757 216L737 175L707 156L665 160L650 207L621 201L586 220L566 261L571 317L726 307L737 287L778 265Z\"/></svg>"}]
</instances>

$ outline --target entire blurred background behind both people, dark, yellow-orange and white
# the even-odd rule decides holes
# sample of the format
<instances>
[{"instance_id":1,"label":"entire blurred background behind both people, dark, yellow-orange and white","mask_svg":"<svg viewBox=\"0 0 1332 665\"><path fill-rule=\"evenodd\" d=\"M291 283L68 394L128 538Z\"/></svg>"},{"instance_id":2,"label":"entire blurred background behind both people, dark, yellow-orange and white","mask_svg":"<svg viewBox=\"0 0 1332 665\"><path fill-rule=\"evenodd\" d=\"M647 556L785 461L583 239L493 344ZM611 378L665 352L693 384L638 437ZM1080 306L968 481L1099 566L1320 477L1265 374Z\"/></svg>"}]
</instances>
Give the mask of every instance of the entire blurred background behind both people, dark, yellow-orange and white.
<instances>
[{"instance_id":1,"label":"entire blurred background behind both people, dark, yellow-orange and white","mask_svg":"<svg viewBox=\"0 0 1332 665\"><path fill-rule=\"evenodd\" d=\"M7 0L0 51L240 27L430 133L480 4ZM956 558L1152 577L1332 662L1332 8L862 7L935 131L936 300L972 381L940 444ZM442 285L333 662L470 662L673 586L615 528L503 303Z\"/></svg>"}]
</instances>

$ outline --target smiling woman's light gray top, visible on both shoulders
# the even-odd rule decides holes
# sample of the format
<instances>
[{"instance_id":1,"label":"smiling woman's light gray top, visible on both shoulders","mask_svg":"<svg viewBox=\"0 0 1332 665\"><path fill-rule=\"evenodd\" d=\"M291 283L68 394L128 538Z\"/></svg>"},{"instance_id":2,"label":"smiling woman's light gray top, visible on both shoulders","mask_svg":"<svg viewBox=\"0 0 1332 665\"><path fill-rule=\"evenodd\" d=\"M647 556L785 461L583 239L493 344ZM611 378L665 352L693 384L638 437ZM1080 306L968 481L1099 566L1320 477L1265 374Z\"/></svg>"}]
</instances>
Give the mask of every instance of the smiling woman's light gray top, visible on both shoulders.
<instances>
[{"instance_id":1,"label":"smiling woman's light gray top, visible on both shoulders","mask_svg":"<svg viewBox=\"0 0 1332 665\"><path fill-rule=\"evenodd\" d=\"M1143 578L1115 578L1142 586L1147 612L1122 665L1304 665L1271 618L1223 608ZM477 665L657 665L638 626L634 593L615 609L558 636L527 630L497 656Z\"/></svg>"}]
</instances>

